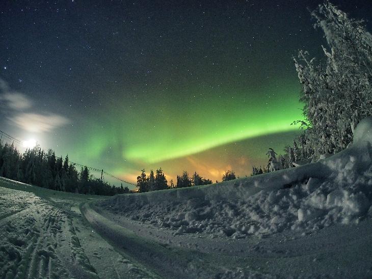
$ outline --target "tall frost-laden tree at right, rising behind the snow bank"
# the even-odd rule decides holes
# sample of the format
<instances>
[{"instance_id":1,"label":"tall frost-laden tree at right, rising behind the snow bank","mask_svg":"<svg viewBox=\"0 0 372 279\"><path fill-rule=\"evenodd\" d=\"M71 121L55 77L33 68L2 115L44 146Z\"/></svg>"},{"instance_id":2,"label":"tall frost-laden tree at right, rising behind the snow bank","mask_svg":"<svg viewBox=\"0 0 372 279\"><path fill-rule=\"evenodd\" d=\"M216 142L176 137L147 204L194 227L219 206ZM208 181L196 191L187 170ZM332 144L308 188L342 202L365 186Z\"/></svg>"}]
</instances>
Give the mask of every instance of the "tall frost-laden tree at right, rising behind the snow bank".
<instances>
[{"instance_id":1,"label":"tall frost-laden tree at right, rising behind the snow bank","mask_svg":"<svg viewBox=\"0 0 372 279\"><path fill-rule=\"evenodd\" d=\"M372 115L372 35L362 20L349 18L329 2L311 15L328 48L322 46L325 65L316 65L307 51L294 59L303 86L300 100L305 103L306 121L301 123L306 128L306 140L302 139L306 147L301 157L345 149L358 122Z\"/></svg>"}]
</instances>

